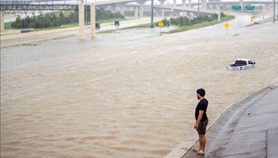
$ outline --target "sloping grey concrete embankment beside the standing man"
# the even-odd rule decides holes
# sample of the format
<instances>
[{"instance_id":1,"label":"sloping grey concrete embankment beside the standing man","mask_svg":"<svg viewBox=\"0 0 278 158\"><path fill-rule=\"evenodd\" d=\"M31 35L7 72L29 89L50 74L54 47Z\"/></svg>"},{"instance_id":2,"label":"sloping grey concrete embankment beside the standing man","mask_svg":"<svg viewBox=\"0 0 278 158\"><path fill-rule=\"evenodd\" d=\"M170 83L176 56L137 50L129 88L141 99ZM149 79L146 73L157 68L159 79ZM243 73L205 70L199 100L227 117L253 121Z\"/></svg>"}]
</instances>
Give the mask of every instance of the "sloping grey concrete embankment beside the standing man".
<instances>
[{"instance_id":1,"label":"sloping grey concrete embankment beside the standing man","mask_svg":"<svg viewBox=\"0 0 278 158\"><path fill-rule=\"evenodd\" d=\"M206 133L205 157L277 156L277 103L278 87L273 85L227 109ZM202 156L189 150L187 157Z\"/></svg>"}]
</instances>

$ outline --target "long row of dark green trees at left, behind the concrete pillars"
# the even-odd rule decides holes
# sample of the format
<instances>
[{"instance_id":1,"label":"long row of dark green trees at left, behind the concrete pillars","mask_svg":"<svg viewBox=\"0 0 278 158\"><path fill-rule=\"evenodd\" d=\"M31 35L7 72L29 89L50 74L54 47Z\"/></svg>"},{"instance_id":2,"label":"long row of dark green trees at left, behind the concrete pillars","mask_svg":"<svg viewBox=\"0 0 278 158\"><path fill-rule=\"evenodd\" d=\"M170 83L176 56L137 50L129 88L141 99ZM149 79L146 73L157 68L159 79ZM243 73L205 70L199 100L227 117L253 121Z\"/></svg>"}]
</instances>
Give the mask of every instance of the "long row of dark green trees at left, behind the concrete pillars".
<instances>
[{"instance_id":1,"label":"long row of dark green trees at left, behind the concrete pillars","mask_svg":"<svg viewBox=\"0 0 278 158\"><path fill-rule=\"evenodd\" d=\"M112 13L110 10L104 10L104 8L99 8L96 10L96 20L99 19L113 19L113 18L124 18L120 12ZM79 12L52 12L45 15L39 15L38 17L28 17L24 19L17 16L16 20L13 21L11 26L13 28L49 28L61 26L64 24L78 23ZM90 10L85 10L85 21L90 21Z\"/></svg>"}]
</instances>

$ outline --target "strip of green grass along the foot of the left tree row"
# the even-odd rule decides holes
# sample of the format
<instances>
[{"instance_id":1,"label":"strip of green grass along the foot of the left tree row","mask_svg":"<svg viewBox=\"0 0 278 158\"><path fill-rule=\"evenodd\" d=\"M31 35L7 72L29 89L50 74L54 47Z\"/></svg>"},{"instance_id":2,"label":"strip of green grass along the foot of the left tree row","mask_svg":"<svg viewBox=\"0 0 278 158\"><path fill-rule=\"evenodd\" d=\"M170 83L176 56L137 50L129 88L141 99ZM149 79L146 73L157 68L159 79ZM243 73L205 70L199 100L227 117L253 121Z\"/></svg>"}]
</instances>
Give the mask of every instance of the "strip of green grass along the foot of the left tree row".
<instances>
[{"instance_id":1,"label":"strip of green grass along the foot of the left tree row","mask_svg":"<svg viewBox=\"0 0 278 158\"><path fill-rule=\"evenodd\" d=\"M104 23L109 23L109 22L114 22L114 21L125 21L127 19L100 19L97 20L99 24L104 24ZM89 22L85 22L85 25L90 25ZM58 29L58 28L71 28L71 27L77 27L79 26L78 23L72 23L72 24L65 24L61 26L56 26L56 27L51 27L51 28L33 28L31 31L40 31L40 30L53 30L53 29ZM5 23L5 29L15 29L12 28L12 22L6 22Z\"/></svg>"}]
</instances>

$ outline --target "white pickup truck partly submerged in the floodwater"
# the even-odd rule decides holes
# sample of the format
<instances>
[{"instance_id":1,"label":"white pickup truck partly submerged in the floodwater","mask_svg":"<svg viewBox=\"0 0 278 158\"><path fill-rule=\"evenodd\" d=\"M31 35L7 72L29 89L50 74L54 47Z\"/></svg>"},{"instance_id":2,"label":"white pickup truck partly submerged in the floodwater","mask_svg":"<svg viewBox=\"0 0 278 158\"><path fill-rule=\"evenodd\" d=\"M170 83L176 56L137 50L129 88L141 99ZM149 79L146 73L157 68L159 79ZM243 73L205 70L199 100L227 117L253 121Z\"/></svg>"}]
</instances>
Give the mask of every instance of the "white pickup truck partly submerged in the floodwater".
<instances>
[{"instance_id":1,"label":"white pickup truck partly submerged in the floodwater","mask_svg":"<svg viewBox=\"0 0 278 158\"><path fill-rule=\"evenodd\" d=\"M250 59L237 59L234 64L228 64L227 70L244 70L251 67L255 67L256 62L252 62Z\"/></svg>"}]
</instances>

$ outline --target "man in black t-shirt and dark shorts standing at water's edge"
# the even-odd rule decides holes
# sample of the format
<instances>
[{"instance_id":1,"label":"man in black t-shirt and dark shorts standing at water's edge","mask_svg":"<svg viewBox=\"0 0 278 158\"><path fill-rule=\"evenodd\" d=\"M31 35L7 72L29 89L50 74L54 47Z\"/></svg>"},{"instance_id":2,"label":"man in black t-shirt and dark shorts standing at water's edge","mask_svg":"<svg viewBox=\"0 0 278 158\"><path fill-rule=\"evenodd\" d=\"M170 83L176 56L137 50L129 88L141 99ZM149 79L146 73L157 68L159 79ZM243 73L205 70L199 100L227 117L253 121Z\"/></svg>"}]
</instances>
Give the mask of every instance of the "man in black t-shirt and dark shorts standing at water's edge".
<instances>
[{"instance_id":1,"label":"man in black t-shirt and dark shorts standing at water's edge","mask_svg":"<svg viewBox=\"0 0 278 158\"><path fill-rule=\"evenodd\" d=\"M206 125L208 125L208 117L206 116L206 108L208 107L208 100L204 98L206 91L204 89L197 90L197 98L199 101L195 110L196 123L194 128L199 134L199 148L193 148L198 155L204 155L204 148L206 146Z\"/></svg>"}]
</instances>

